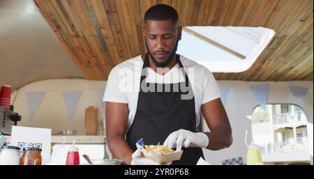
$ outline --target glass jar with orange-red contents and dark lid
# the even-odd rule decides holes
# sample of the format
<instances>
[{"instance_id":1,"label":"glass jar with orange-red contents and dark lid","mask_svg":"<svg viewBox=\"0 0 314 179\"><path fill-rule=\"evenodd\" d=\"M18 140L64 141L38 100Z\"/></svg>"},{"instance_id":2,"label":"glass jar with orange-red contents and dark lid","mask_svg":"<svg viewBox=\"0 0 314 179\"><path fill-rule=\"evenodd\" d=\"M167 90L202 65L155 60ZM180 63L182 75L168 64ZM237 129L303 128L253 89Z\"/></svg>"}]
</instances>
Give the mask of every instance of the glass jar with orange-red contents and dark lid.
<instances>
[{"instance_id":1,"label":"glass jar with orange-red contents and dark lid","mask_svg":"<svg viewBox=\"0 0 314 179\"><path fill-rule=\"evenodd\" d=\"M40 148L24 148L21 157L21 165L41 165L41 149Z\"/></svg>"}]
</instances>

